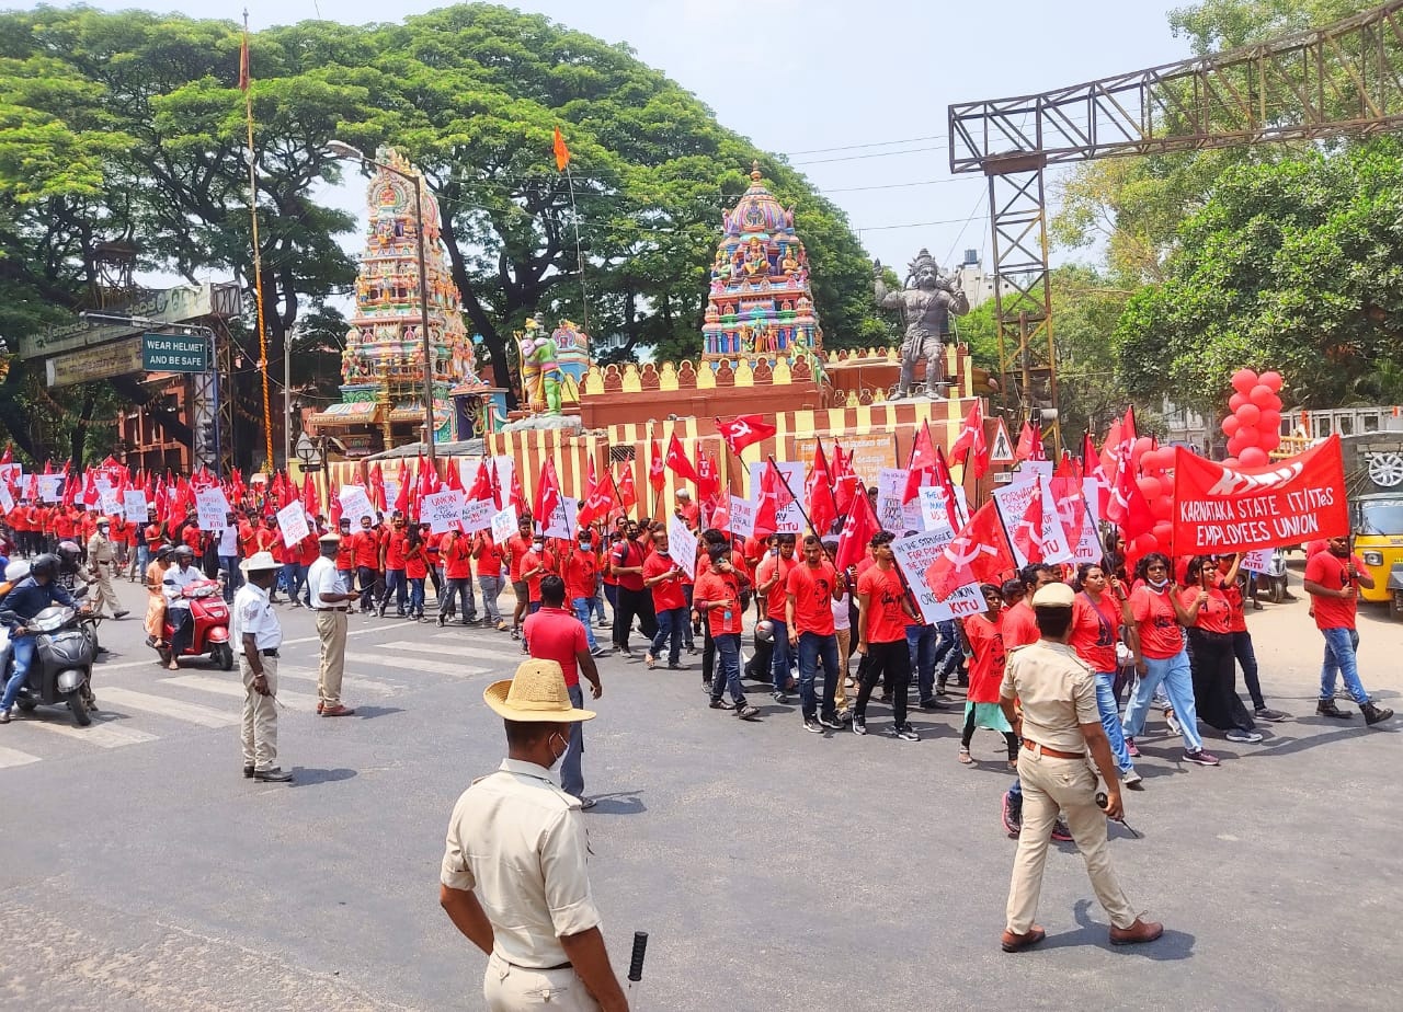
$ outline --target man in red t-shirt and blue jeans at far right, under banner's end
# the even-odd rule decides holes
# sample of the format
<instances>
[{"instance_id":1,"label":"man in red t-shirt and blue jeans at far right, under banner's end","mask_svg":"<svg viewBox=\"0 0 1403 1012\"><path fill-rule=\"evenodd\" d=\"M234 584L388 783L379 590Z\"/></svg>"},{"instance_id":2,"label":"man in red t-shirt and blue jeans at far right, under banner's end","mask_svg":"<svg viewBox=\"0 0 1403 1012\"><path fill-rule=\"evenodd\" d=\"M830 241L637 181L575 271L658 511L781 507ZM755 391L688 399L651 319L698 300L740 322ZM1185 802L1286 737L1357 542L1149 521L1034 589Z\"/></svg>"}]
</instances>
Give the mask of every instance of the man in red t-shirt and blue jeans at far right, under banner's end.
<instances>
[{"instance_id":1,"label":"man in red t-shirt and blue jeans at far right, under banner's end","mask_svg":"<svg viewBox=\"0 0 1403 1012\"><path fill-rule=\"evenodd\" d=\"M1324 663L1320 666L1320 698L1316 713L1333 718L1348 718L1334 705L1336 676L1344 678L1345 688L1360 705L1364 720L1369 726L1388 720L1393 711L1378 706L1360 681L1360 662L1355 650L1360 634L1354 629L1355 608L1360 587L1374 589L1374 576L1364 566L1364 559L1350 551L1350 538L1337 537L1326 541L1324 551L1316 552L1306 562L1306 593L1315 611L1316 628L1324 636Z\"/></svg>"}]
</instances>

